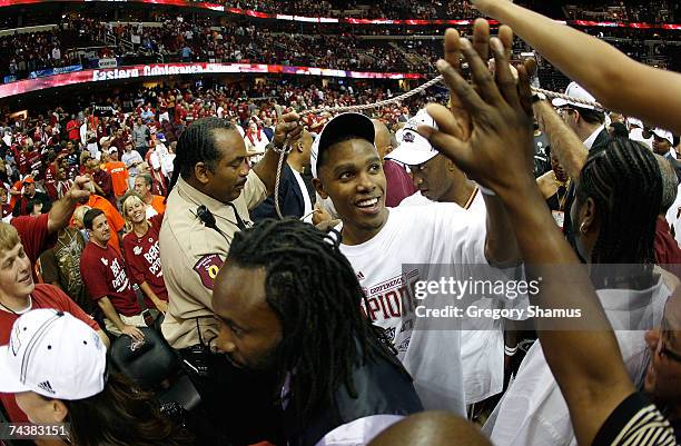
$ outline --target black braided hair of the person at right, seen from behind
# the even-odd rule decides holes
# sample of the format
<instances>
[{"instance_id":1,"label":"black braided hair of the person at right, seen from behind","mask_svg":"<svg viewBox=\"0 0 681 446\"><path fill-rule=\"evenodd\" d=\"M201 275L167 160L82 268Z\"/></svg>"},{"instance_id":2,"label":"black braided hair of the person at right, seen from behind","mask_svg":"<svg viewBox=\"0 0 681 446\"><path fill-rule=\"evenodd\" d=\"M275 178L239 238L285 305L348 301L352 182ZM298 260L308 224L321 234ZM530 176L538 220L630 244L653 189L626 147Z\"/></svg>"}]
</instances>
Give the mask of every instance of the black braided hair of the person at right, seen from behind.
<instances>
[{"instance_id":1,"label":"black braided hair of the person at right, seen from behind","mask_svg":"<svg viewBox=\"0 0 681 446\"><path fill-rule=\"evenodd\" d=\"M624 138L589 155L576 201L593 199L601 219L592 264L653 264L662 178L653 153Z\"/></svg>"}]
</instances>

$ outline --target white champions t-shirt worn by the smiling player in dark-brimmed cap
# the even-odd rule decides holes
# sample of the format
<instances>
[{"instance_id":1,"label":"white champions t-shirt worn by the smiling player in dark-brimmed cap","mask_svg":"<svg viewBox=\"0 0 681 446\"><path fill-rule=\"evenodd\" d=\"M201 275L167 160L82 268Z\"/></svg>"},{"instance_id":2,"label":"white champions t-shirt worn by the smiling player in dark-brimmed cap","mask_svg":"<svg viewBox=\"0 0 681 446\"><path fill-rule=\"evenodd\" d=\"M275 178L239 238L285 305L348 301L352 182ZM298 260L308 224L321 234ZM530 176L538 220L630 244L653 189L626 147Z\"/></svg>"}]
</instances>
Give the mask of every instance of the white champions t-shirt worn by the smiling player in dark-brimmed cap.
<instances>
[{"instance_id":1,"label":"white champions t-shirt worn by the smiling player in dark-brimmed cap","mask_svg":"<svg viewBox=\"0 0 681 446\"><path fill-rule=\"evenodd\" d=\"M388 212L374 238L340 245L340 251L366 295L368 317L393 337L424 407L465 416L461 325L451 319L445 321L446 329L434 329L432 318L416 317L413 309L403 308L402 299L416 281L433 274L428 265L446 264L444 272L461 280L474 275L468 265L487 265L485 219L452 204L397 207Z\"/></svg>"}]
</instances>

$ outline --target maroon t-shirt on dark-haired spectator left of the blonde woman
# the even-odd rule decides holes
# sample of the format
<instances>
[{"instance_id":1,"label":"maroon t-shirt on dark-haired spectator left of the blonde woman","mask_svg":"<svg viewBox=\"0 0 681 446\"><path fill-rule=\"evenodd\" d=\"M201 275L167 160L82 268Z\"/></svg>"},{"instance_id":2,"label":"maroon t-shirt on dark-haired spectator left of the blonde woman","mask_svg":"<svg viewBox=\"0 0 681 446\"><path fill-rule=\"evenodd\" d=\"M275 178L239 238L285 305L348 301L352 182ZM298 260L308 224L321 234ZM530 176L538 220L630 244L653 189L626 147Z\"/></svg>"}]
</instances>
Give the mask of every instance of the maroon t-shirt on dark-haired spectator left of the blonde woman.
<instances>
[{"instance_id":1,"label":"maroon t-shirt on dark-haired spectator left of the blonde woman","mask_svg":"<svg viewBox=\"0 0 681 446\"><path fill-rule=\"evenodd\" d=\"M80 256L80 276L91 299L108 297L114 308L124 316L141 313L124 259L110 245L101 248L90 241L86 246Z\"/></svg>"}]
</instances>

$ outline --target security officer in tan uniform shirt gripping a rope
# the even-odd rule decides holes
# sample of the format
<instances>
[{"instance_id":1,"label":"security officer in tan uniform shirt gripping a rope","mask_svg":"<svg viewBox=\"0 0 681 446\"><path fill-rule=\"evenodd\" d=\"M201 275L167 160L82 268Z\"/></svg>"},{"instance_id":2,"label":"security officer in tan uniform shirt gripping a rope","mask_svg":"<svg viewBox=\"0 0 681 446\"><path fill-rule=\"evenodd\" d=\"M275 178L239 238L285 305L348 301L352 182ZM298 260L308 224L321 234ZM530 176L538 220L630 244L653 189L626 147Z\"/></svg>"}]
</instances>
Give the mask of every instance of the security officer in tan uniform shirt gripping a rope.
<instances>
[{"instance_id":1,"label":"security officer in tan uniform shirt gripping a rope","mask_svg":"<svg viewBox=\"0 0 681 446\"><path fill-rule=\"evenodd\" d=\"M238 130L219 118L191 123L176 148L172 190L159 236L169 296L161 329L188 367L207 415L216 417L214 427L227 429L228 440L236 445L277 440L274 383L246 376L211 353L219 331L210 303L213 286L234 234L250 225L248 210L273 194L279 152L302 131L296 113L283 117L265 157L253 169Z\"/></svg>"}]
</instances>

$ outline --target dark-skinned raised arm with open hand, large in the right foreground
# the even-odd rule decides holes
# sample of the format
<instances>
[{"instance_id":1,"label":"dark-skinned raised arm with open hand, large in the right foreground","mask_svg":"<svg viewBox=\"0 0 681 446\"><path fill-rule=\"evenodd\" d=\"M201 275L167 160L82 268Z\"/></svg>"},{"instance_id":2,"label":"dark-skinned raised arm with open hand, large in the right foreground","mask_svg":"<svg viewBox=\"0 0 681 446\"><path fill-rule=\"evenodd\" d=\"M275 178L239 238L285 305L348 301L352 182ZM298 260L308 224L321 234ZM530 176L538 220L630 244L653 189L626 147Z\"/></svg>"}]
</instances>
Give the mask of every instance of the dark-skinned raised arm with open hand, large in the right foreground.
<instances>
[{"instance_id":1,"label":"dark-skinned raised arm with open hand, large in the right foreground","mask_svg":"<svg viewBox=\"0 0 681 446\"><path fill-rule=\"evenodd\" d=\"M492 39L490 47L497 67L496 85L473 46L462 39L478 92L450 63L437 63L446 83L471 113L471 138L464 141L446 133L441 106L428 107L440 130L418 130L470 178L497 194L525 261L527 280L542 278L540 291L530 294L532 304L581 309L582 318L537 319L535 326L546 361L568 402L578 443L591 445L613 409L634 388L588 272L556 228L526 169L533 143L527 72L519 68L516 88L499 39Z\"/></svg>"}]
</instances>

